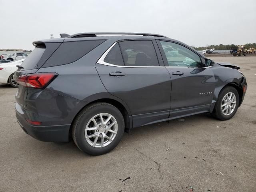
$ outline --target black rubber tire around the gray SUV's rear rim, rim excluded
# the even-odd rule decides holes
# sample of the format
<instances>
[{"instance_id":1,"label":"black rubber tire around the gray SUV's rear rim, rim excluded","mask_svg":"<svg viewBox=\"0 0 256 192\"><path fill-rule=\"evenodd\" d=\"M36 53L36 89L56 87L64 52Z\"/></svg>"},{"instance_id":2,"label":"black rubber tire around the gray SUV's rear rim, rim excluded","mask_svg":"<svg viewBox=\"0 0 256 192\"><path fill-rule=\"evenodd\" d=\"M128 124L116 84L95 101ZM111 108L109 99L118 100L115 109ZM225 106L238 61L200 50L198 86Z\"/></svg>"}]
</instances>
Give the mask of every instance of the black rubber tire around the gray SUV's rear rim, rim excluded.
<instances>
[{"instance_id":1,"label":"black rubber tire around the gray SUV's rear rim, rim excluded","mask_svg":"<svg viewBox=\"0 0 256 192\"><path fill-rule=\"evenodd\" d=\"M91 146L87 142L85 138L85 129L86 129L86 125L91 120L91 118L100 113L111 114L116 119L116 122L118 124L118 130L114 140L112 140L110 144L104 147L96 148ZM72 128L72 138L76 146L78 146L78 148L83 152L91 155L102 155L110 152L118 145L123 134L124 134L124 117L122 116L122 113L115 106L105 102L97 102L94 104L90 104L89 106L84 108L76 117L73 124L73 128Z\"/></svg>"}]
</instances>

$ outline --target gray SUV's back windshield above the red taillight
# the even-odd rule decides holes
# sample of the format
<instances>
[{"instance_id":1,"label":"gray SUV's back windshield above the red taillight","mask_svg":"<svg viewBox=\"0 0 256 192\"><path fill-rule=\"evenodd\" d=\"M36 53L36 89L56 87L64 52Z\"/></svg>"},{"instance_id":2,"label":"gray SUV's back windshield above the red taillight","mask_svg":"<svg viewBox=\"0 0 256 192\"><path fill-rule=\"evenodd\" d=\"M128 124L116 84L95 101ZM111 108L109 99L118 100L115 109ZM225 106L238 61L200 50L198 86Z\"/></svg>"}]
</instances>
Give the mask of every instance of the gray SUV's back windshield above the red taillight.
<instances>
[{"instance_id":1,"label":"gray SUV's back windshield above the red taillight","mask_svg":"<svg viewBox=\"0 0 256 192\"><path fill-rule=\"evenodd\" d=\"M24 69L21 70L30 70L34 69L42 55L44 54L45 46L37 46L34 50L29 54L29 56L22 62L21 66Z\"/></svg>"}]
</instances>

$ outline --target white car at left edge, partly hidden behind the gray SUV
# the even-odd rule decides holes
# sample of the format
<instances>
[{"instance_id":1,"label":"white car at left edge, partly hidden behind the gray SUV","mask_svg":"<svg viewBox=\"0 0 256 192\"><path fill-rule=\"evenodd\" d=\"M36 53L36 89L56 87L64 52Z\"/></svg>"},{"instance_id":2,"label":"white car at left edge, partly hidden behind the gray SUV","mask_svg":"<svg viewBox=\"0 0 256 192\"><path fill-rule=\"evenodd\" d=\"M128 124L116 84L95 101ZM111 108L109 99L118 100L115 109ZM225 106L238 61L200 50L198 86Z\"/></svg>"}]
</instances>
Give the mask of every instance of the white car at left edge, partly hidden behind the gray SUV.
<instances>
[{"instance_id":1,"label":"white car at left edge, partly hidden behind the gray SUV","mask_svg":"<svg viewBox=\"0 0 256 192\"><path fill-rule=\"evenodd\" d=\"M10 63L0 64L0 83L9 83L11 86L17 88L19 84L14 80L14 73L18 69L16 65L22 64L25 59Z\"/></svg>"}]
</instances>

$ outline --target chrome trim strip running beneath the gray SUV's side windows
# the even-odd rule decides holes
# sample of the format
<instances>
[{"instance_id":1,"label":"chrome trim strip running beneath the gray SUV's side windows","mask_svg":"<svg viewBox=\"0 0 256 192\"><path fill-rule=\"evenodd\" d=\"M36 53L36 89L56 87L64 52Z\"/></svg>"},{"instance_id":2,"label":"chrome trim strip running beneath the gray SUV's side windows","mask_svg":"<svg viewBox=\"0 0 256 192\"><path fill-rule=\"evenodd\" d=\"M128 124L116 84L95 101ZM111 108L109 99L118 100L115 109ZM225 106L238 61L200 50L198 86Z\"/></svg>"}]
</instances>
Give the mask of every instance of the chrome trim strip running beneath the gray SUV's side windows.
<instances>
[{"instance_id":1,"label":"chrome trim strip running beneath the gray SUV's side windows","mask_svg":"<svg viewBox=\"0 0 256 192\"><path fill-rule=\"evenodd\" d=\"M112 66L112 67L127 67L127 68L209 68L212 66L208 66L208 67L182 67L182 66L124 66L124 65L114 65L114 64L110 64L107 62L104 62L105 57L107 56L108 52L110 52L110 50L115 46L115 44L117 44L117 42L114 42L114 44L112 44L105 52L104 54L100 57L100 59L97 61L98 64L102 64L102 65L107 65L107 66Z\"/></svg>"}]
</instances>

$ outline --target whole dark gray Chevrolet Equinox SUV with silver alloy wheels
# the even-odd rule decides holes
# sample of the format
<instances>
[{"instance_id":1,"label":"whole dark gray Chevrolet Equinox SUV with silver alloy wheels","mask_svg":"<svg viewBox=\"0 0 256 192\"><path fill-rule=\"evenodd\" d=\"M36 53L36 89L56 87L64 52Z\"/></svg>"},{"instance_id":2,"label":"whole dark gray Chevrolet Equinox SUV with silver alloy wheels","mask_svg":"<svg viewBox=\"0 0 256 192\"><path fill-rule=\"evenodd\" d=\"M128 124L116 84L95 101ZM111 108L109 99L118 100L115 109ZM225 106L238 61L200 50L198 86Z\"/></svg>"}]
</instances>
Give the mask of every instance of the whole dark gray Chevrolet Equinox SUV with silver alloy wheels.
<instances>
[{"instance_id":1,"label":"whole dark gray Chevrolet Equinox SUV with silver alloy wheels","mask_svg":"<svg viewBox=\"0 0 256 192\"><path fill-rule=\"evenodd\" d=\"M80 150L100 155L139 126L204 112L228 120L244 99L238 66L214 63L177 40L140 33L61 37L33 42L15 73L16 117L38 140L73 138Z\"/></svg>"}]
</instances>

